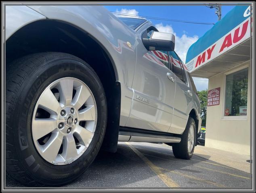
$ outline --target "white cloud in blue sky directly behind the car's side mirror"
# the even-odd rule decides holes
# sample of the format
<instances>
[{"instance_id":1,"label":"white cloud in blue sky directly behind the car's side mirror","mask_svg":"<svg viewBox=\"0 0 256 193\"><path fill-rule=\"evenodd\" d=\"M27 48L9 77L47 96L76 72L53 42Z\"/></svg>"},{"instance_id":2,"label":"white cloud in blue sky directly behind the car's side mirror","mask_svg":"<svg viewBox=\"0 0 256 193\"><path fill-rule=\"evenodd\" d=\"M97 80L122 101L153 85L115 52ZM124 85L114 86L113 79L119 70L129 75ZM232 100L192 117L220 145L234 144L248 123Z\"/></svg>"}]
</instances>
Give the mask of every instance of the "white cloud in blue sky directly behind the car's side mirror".
<instances>
[{"instance_id":1,"label":"white cloud in blue sky directly behind the car's side mirror","mask_svg":"<svg viewBox=\"0 0 256 193\"><path fill-rule=\"evenodd\" d=\"M185 31L183 31L183 35L179 37L174 32L171 25L164 26L162 23L156 24L155 27L161 32L172 33L175 35L175 51L180 59L185 63L187 51L189 47L198 40L198 36L194 35L193 37L190 37L185 34Z\"/></svg>"}]
</instances>

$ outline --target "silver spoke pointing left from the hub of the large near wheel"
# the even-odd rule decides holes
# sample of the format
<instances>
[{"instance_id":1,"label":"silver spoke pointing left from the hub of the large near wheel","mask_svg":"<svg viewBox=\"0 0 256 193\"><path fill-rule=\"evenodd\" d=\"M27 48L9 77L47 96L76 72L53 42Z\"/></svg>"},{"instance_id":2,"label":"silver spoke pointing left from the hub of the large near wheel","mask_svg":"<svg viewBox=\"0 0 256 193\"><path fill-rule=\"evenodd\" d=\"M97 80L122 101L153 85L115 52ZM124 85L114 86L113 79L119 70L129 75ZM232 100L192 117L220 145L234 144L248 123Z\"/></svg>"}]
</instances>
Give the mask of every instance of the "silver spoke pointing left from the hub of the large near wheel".
<instances>
[{"instance_id":1,"label":"silver spoke pointing left from the hub of the large near wheel","mask_svg":"<svg viewBox=\"0 0 256 193\"><path fill-rule=\"evenodd\" d=\"M32 133L35 140L38 140L48 133L52 132L57 128L57 120L48 118L48 119L34 119L32 121Z\"/></svg>"}]
</instances>

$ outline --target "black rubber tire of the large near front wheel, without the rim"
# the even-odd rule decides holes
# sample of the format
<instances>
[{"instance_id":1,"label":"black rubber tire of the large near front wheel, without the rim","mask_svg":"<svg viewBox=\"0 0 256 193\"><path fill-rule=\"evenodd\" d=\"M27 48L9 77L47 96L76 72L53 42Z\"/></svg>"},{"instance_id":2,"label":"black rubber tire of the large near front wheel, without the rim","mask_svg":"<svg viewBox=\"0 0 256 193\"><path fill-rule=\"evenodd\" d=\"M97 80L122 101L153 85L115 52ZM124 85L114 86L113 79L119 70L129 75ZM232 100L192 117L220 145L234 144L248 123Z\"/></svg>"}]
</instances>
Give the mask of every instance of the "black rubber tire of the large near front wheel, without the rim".
<instances>
[{"instance_id":1,"label":"black rubber tire of the large near front wheel, without the rim","mask_svg":"<svg viewBox=\"0 0 256 193\"><path fill-rule=\"evenodd\" d=\"M31 117L38 97L53 81L73 77L92 91L97 104L97 125L84 154L67 165L44 160L31 135ZM107 102L101 81L83 60L67 53L27 55L6 66L6 172L21 184L61 186L78 178L93 162L107 124Z\"/></svg>"}]
</instances>

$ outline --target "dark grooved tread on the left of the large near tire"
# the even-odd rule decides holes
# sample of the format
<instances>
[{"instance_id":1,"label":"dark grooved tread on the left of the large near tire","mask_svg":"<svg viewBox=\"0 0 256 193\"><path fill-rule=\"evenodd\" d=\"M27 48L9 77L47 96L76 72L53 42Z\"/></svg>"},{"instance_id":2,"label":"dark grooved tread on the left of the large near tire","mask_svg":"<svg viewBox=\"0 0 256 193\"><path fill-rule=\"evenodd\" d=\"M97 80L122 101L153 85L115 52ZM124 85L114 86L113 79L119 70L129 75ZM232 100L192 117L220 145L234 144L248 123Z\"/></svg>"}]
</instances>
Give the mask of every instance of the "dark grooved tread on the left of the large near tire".
<instances>
[{"instance_id":1,"label":"dark grooved tread on the left of the large near tire","mask_svg":"<svg viewBox=\"0 0 256 193\"><path fill-rule=\"evenodd\" d=\"M59 52L45 52L45 53L35 53L21 57L14 60L10 64L6 64L6 140L5 140L5 150L6 150L6 176L11 179L18 180L20 183L29 186L45 186L43 183L35 181L33 177L23 168L23 165L19 162L19 157L15 153L17 152L15 148L14 133L12 128L13 112L15 112L15 104L19 103L19 93L23 89L24 83L27 82L29 76L35 70L37 70L43 64L47 64L58 58L67 58L77 60L84 63L80 58L70 55L67 53ZM88 65L86 66L94 72L94 70ZM94 72L94 75L97 74Z\"/></svg>"}]
</instances>

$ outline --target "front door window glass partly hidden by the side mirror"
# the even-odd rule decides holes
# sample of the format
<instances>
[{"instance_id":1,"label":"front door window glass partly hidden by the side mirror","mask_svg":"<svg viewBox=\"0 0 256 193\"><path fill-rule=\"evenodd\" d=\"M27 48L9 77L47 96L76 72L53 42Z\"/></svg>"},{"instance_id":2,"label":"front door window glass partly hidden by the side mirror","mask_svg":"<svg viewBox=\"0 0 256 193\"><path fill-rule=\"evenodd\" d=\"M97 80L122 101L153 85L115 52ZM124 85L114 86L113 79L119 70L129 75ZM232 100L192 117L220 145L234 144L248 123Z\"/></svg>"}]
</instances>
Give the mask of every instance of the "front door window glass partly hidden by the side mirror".
<instances>
[{"instance_id":1,"label":"front door window glass partly hidden by the side mirror","mask_svg":"<svg viewBox=\"0 0 256 193\"><path fill-rule=\"evenodd\" d=\"M157 30L154 29L153 27L150 27L149 29L147 29L147 38L151 37L153 31L157 31ZM144 33L143 36L145 37L146 33ZM152 50L152 51L149 51L149 54L151 54L155 59L157 59L159 61L158 62L159 64L163 64L164 66L169 68L169 60L168 60L168 52L167 51Z\"/></svg>"}]
</instances>

